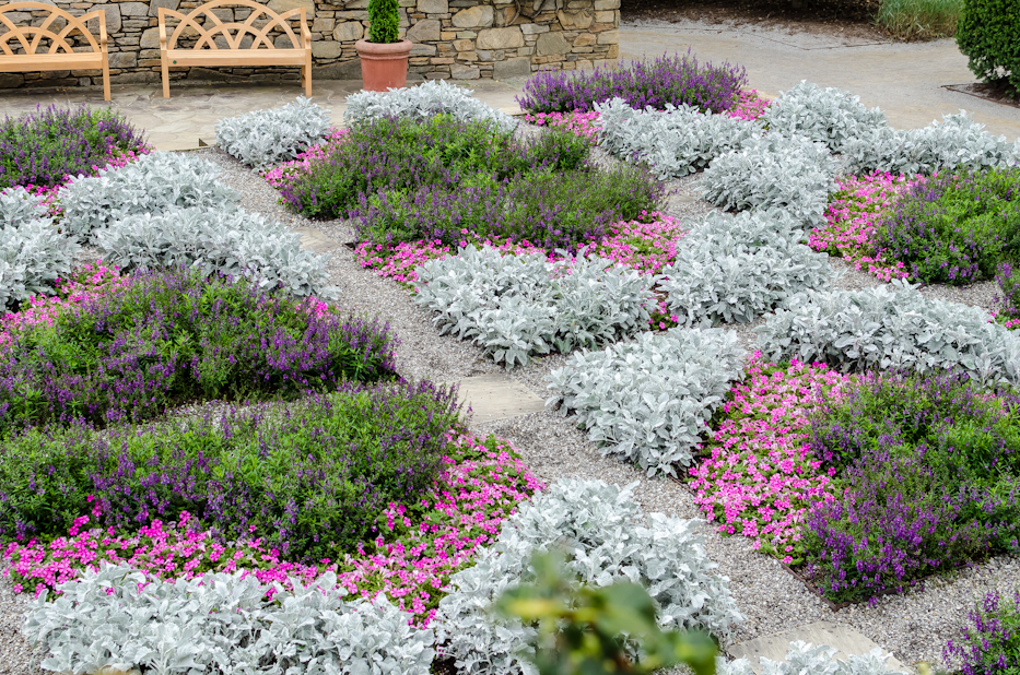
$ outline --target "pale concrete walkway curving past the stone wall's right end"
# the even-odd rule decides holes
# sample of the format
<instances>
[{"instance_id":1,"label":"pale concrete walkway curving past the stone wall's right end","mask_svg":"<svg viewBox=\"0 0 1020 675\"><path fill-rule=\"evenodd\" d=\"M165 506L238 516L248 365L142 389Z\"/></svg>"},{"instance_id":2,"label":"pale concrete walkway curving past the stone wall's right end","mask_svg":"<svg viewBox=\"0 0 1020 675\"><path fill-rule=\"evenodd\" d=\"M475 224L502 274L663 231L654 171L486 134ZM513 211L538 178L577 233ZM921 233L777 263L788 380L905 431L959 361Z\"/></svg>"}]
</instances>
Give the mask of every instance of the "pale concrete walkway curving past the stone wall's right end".
<instances>
[{"instance_id":1,"label":"pale concrete walkway curving past the stone wall's right end","mask_svg":"<svg viewBox=\"0 0 1020 675\"><path fill-rule=\"evenodd\" d=\"M988 131L1020 137L1020 108L997 104L947 85L975 81L954 40L889 43L842 39L746 24L710 25L696 21L635 23L620 28L624 59L685 52L701 61L743 66L752 88L769 97L801 80L837 86L879 106L900 129L926 127L943 114L973 112Z\"/></svg>"}]
</instances>

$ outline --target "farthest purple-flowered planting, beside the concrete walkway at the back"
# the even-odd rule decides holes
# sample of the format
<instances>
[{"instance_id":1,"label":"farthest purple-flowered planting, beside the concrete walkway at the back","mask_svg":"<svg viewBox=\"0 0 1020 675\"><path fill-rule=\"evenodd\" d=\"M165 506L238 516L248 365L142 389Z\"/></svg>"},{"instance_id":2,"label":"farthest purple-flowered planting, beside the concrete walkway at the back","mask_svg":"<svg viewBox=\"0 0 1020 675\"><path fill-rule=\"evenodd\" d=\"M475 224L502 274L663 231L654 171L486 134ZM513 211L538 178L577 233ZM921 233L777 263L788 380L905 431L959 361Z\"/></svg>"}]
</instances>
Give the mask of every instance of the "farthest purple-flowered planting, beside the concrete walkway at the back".
<instances>
[{"instance_id":1,"label":"farthest purple-flowered planting, beside the concrete walkway at the back","mask_svg":"<svg viewBox=\"0 0 1020 675\"><path fill-rule=\"evenodd\" d=\"M688 50L652 61L599 67L593 72L540 71L525 83L517 103L531 112L571 112L622 98L638 110L661 110L670 104L723 112L746 85L743 68L727 62L700 64Z\"/></svg>"}]
</instances>

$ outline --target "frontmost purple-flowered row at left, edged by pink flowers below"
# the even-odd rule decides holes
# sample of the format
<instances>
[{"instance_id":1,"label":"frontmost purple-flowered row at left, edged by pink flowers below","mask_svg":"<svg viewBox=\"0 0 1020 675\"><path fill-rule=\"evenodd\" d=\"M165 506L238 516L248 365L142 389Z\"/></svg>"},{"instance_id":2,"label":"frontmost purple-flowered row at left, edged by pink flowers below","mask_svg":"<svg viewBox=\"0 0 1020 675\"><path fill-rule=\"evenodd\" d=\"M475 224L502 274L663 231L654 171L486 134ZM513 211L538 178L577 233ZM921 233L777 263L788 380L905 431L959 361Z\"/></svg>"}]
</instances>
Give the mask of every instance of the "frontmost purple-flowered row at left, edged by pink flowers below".
<instances>
[{"instance_id":1,"label":"frontmost purple-flowered row at left, edged by pink flowers below","mask_svg":"<svg viewBox=\"0 0 1020 675\"><path fill-rule=\"evenodd\" d=\"M47 541L89 512L132 531L188 511L223 541L343 559L371 550L390 502L429 494L458 413L431 382L349 383L284 406L31 429L0 445L0 536Z\"/></svg>"}]
</instances>

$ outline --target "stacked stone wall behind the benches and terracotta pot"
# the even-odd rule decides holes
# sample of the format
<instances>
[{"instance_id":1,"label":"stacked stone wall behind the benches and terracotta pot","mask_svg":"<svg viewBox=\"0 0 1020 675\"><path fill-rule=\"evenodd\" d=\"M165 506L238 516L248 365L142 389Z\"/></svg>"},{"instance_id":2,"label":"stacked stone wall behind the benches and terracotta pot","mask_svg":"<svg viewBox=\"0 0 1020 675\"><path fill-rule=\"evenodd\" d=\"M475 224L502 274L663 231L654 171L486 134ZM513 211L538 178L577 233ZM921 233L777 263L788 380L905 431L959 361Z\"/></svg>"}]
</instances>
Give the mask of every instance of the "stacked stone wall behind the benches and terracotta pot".
<instances>
[{"instance_id":1,"label":"stacked stone wall behind the benches and terracotta pot","mask_svg":"<svg viewBox=\"0 0 1020 675\"><path fill-rule=\"evenodd\" d=\"M187 13L202 4L196 0L48 3L74 15L105 11L114 84L160 82L159 8ZM277 12L305 8L312 31L313 79L361 78L354 43L366 34L368 0L336 4L267 0L262 4ZM244 7L216 10L224 22L244 21L248 13ZM45 15L8 14L19 25L38 25ZM296 22L293 25L296 28ZM412 79L503 80L540 70L591 68L619 58L620 0L400 0L400 26L401 36L414 43L409 67ZM97 34L96 26L90 27ZM0 26L0 35L3 32ZM278 46L290 46L282 33L277 32L274 38ZM189 46L188 40L180 46ZM298 73L297 68L171 68L171 80L297 81ZM0 88L32 86L102 86L102 76L97 70L0 73Z\"/></svg>"}]
</instances>

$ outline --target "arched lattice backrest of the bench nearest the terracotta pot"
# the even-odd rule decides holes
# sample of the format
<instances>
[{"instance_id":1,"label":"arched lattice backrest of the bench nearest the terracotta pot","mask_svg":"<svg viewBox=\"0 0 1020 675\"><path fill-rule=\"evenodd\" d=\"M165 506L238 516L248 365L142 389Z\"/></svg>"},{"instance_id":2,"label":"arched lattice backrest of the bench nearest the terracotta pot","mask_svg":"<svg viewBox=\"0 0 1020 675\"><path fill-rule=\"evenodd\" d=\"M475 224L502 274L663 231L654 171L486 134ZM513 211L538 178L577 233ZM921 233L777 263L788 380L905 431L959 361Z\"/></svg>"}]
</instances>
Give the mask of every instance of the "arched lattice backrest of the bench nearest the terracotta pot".
<instances>
[{"instance_id":1,"label":"arched lattice backrest of the bench nearest the terracotta pot","mask_svg":"<svg viewBox=\"0 0 1020 675\"><path fill-rule=\"evenodd\" d=\"M225 5L247 7L251 9L251 14L248 15L244 23L236 21L224 22L216 16L215 12L212 10ZM207 19L200 22L199 19L203 15ZM187 15L166 8L160 8L161 33L165 29L165 20L167 16L176 17L180 23L177 24L173 35L171 35L169 39L166 42L166 49L176 49L177 38L179 38L181 34L185 34L188 28L191 28L198 34L195 49L221 49L222 44L226 45L226 49L259 49L260 45L263 45L267 49L275 49L275 45L269 35L274 27L279 27L280 31L291 39L293 49L303 49L304 46L302 45L301 38L294 34L288 20L300 19L301 25L304 28L302 33L304 34L307 32L305 8L294 8L282 14L277 14L265 4L259 4L251 0L213 0L212 2L207 2L201 7L195 8L188 12ZM262 16L265 16L265 19L260 19ZM256 23L261 25L257 26ZM248 34L251 35L251 45L242 47L241 43ZM192 36L191 34L185 34L185 37ZM220 44L218 44L216 38L220 38Z\"/></svg>"}]
</instances>

